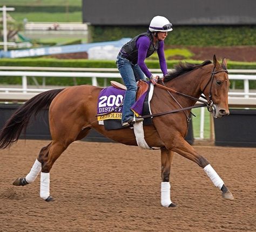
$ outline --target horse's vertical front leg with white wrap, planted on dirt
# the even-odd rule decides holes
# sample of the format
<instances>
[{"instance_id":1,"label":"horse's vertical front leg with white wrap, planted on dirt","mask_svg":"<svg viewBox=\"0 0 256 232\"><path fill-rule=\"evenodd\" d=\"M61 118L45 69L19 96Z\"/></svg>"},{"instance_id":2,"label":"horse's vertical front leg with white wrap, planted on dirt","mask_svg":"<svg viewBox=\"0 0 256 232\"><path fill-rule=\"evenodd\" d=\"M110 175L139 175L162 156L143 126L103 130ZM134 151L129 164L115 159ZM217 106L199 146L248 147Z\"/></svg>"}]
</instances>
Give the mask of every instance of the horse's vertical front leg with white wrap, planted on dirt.
<instances>
[{"instance_id":1,"label":"horse's vertical front leg with white wrap, planted on dirt","mask_svg":"<svg viewBox=\"0 0 256 232\"><path fill-rule=\"evenodd\" d=\"M164 207L176 207L171 201L171 185L169 182L173 152L161 148L161 205Z\"/></svg>"}]
</instances>

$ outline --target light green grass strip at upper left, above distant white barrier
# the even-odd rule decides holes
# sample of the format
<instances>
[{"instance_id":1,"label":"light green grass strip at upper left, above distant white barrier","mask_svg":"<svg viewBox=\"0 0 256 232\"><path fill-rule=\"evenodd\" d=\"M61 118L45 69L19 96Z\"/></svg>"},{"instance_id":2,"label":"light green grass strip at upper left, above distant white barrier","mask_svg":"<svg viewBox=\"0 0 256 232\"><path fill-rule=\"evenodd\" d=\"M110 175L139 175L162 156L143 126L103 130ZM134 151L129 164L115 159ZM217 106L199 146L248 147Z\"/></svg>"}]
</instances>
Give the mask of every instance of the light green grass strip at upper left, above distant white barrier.
<instances>
[{"instance_id":1,"label":"light green grass strip at upper left, above distant white barrier","mask_svg":"<svg viewBox=\"0 0 256 232\"><path fill-rule=\"evenodd\" d=\"M40 17L38 17L40 14ZM24 18L28 19L28 22L82 22L82 11L69 12L69 13L41 13L41 12L11 12L10 16L22 22Z\"/></svg>"}]
</instances>

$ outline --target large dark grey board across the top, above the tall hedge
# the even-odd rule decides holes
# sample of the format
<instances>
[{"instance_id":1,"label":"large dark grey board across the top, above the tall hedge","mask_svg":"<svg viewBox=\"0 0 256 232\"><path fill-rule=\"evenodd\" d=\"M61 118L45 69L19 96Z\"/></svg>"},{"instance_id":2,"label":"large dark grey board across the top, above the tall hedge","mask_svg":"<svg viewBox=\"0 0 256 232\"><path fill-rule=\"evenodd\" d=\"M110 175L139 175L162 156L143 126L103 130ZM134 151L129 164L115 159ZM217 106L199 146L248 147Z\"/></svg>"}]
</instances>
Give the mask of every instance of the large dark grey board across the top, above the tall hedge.
<instances>
[{"instance_id":1,"label":"large dark grey board across the top, above the tall hedge","mask_svg":"<svg viewBox=\"0 0 256 232\"><path fill-rule=\"evenodd\" d=\"M255 25L254 0L83 0L83 22L92 25L148 25L161 15L174 25Z\"/></svg>"}]
</instances>

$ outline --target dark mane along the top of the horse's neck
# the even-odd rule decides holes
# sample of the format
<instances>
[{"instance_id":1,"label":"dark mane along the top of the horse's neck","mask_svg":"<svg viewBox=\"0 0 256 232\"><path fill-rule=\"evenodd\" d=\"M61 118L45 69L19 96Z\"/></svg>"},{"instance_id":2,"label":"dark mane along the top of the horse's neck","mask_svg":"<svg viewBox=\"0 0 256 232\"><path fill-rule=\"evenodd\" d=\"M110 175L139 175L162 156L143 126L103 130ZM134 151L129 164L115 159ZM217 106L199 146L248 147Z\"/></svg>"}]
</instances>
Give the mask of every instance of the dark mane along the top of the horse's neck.
<instances>
[{"instance_id":1,"label":"dark mane along the top of the horse's neck","mask_svg":"<svg viewBox=\"0 0 256 232\"><path fill-rule=\"evenodd\" d=\"M194 69L197 69L197 68L203 67L205 65L209 65L209 64L212 64L211 60L206 60L200 65L190 64L190 63L187 63L187 62L185 62L185 63L184 62L179 62L179 64L174 67L174 71L168 73L165 76L164 82L170 81L174 78L177 78L177 76L180 76L184 73L190 72Z\"/></svg>"}]
</instances>

